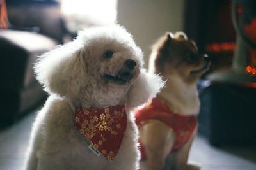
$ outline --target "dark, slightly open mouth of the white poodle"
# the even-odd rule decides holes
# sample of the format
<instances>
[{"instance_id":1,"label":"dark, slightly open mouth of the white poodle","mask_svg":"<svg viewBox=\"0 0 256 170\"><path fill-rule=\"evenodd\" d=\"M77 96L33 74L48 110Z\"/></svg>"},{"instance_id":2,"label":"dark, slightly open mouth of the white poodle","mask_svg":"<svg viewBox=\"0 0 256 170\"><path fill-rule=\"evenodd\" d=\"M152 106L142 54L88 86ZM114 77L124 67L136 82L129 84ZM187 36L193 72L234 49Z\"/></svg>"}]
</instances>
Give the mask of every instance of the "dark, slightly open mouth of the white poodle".
<instances>
[{"instance_id":1,"label":"dark, slightly open mouth of the white poodle","mask_svg":"<svg viewBox=\"0 0 256 170\"><path fill-rule=\"evenodd\" d=\"M115 81L116 83L125 84L133 78L132 71L119 72L117 76L111 76L110 74L105 74L104 78L107 80Z\"/></svg>"}]
</instances>

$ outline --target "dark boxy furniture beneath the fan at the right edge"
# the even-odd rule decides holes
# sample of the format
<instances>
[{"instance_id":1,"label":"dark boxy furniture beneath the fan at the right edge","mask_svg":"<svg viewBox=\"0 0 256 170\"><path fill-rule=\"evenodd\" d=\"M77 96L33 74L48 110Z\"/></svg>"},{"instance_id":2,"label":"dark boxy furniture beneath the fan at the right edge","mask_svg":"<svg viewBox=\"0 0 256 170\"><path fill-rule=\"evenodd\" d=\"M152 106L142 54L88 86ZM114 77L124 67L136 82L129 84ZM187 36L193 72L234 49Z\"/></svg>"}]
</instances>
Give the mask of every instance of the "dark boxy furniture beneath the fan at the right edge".
<instances>
[{"instance_id":1,"label":"dark boxy furniture beneath the fan at the right edge","mask_svg":"<svg viewBox=\"0 0 256 170\"><path fill-rule=\"evenodd\" d=\"M256 83L200 82L200 134L214 146L256 145Z\"/></svg>"}]
</instances>

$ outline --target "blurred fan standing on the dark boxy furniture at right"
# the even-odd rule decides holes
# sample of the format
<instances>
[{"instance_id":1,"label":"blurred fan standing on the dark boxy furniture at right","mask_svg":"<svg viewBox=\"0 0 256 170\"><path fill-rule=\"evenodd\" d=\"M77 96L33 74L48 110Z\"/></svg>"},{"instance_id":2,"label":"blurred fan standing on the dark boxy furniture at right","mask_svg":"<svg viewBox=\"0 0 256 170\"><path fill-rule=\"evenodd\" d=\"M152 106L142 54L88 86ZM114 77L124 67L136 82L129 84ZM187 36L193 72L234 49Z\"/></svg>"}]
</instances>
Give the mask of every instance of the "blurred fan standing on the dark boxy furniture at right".
<instances>
[{"instance_id":1,"label":"blurred fan standing on the dark boxy furniture at right","mask_svg":"<svg viewBox=\"0 0 256 170\"><path fill-rule=\"evenodd\" d=\"M232 20L237 32L232 70L211 74L209 79L256 87L256 1L232 1Z\"/></svg>"}]
</instances>

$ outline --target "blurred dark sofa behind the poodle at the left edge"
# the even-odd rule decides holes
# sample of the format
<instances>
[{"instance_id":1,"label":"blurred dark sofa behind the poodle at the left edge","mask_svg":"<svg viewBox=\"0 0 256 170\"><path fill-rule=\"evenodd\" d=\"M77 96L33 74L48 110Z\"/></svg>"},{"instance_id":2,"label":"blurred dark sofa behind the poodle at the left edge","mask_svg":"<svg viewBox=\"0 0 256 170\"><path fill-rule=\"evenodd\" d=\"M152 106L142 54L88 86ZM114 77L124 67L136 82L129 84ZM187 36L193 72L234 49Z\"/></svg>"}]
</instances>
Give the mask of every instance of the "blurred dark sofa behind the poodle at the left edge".
<instances>
[{"instance_id":1,"label":"blurred dark sofa behind the poodle at the left edge","mask_svg":"<svg viewBox=\"0 0 256 170\"><path fill-rule=\"evenodd\" d=\"M6 1L6 6L10 24L0 29L0 126L44 101L33 74L36 56L63 43L67 33L55 1Z\"/></svg>"}]
</instances>

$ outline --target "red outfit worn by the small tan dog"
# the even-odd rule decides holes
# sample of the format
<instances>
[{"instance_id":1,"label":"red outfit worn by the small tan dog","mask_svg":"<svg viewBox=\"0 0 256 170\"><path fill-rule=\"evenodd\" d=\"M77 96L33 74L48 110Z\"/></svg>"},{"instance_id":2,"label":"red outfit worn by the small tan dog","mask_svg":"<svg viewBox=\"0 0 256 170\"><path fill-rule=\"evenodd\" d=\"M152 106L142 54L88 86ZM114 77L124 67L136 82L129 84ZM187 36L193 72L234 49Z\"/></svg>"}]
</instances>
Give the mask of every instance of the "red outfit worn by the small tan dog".
<instances>
[{"instance_id":1,"label":"red outfit worn by the small tan dog","mask_svg":"<svg viewBox=\"0 0 256 170\"><path fill-rule=\"evenodd\" d=\"M157 119L173 129L175 133L175 143L171 152L178 150L186 142L188 142L191 134L194 132L197 125L195 115L182 116L170 111L170 108L157 98L152 99L144 108L135 112L136 124L141 127L147 124L148 119ZM141 145L141 143L140 143ZM145 151L143 146L140 147L141 157L145 159Z\"/></svg>"}]
</instances>

